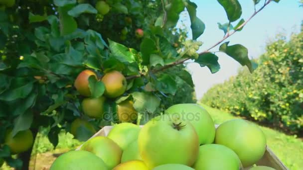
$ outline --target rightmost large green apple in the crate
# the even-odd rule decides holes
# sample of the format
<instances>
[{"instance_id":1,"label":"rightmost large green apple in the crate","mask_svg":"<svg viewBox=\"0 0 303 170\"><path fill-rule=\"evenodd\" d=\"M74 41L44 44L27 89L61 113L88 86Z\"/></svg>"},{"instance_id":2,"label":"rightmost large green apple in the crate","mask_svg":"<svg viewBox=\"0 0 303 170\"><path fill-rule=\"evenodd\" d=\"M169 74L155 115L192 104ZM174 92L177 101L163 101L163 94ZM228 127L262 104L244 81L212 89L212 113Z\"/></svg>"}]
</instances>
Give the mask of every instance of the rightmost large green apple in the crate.
<instances>
[{"instance_id":1,"label":"rightmost large green apple in the crate","mask_svg":"<svg viewBox=\"0 0 303 170\"><path fill-rule=\"evenodd\" d=\"M266 151L266 137L262 130L242 119L222 123L216 130L215 143L232 149L243 167L257 163Z\"/></svg>"}]
</instances>

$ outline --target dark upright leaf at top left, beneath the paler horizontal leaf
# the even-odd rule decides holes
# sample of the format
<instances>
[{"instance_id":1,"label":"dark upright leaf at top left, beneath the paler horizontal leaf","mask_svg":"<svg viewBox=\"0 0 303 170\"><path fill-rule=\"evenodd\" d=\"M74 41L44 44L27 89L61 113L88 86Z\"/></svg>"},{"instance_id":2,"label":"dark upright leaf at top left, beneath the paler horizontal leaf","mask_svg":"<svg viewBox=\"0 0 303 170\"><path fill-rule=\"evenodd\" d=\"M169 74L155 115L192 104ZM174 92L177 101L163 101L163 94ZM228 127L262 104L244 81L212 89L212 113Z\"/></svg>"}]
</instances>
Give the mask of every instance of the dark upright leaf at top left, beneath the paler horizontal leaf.
<instances>
[{"instance_id":1,"label":"dark upright leaf at top left, beneath the paler horizontal leaf","mask_svg":"<svg viewBox=\"0 0 303 170\"><path fill-rule=\"evenodd\" d=\"M66 0L62 0L66 1ZM76 20L68 15L67 11L71 9L72 6L66 6L66 7L59 7L58 12L60 16L60 33L61 35L67 35L72 32L74 32L77 29L77 22Z\"/></svg>"}]
</instances>

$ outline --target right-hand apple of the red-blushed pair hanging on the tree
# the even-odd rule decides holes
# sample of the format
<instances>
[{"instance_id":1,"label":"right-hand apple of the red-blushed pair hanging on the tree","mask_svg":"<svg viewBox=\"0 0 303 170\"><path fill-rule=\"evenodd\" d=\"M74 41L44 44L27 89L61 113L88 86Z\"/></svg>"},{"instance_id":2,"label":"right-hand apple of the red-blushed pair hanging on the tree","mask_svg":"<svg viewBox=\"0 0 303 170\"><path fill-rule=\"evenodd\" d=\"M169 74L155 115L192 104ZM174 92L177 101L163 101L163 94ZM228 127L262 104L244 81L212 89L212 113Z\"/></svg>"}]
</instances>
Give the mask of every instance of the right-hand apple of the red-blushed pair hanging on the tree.
<instances>
[{"instance_id":1,"label":"right-hand apple of the red-blushed pair hanging on the tree","mask_svg":"<svg viewBox=\"0 0 303 170\"><path fill-rule=\"evenodd\" d=\"M109 98L115 98L122 95L127 87L125 77L118 71L106 73L101 81L105 85L104 94Z\"/></svg>"}]
</instances>

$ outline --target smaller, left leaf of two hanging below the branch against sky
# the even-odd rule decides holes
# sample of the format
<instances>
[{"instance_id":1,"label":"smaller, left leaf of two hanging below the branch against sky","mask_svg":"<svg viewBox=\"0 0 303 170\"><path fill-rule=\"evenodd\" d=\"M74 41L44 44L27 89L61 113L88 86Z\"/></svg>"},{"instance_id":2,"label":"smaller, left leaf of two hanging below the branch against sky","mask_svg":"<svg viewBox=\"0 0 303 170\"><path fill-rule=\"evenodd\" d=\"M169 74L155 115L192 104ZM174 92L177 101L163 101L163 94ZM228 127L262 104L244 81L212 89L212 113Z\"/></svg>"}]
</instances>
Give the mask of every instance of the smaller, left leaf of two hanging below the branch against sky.
<instances>
[{"instance_id":1,"label":"smaller, left leaf of two hanging below the branch against sky","mask_svg":"<svg viewBox=\"0 0 303 170\"><path fill-rule=\"evenodd\" d=\"M205 53L199 55L195 62L198 63L201 67L207 66L211 73L216 73L220 70L218 57L213 53Z\"/></svg>"}]
</instances>

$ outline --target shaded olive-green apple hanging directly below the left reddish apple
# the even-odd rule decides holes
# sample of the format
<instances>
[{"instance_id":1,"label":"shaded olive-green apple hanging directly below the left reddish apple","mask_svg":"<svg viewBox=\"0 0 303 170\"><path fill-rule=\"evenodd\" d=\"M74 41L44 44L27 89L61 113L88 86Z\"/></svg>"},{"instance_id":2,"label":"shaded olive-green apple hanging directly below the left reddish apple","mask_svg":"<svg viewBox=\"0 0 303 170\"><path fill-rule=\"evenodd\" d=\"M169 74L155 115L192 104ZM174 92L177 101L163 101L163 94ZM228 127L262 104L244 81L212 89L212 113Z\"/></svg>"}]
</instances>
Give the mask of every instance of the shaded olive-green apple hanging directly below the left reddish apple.
<instances>
[{"instance_id":1,"label":"shaded olive-green apple hanging directly below the left reddish apple","mask_svg":"<svg viewBox=\"0 0 303 170\"><path fill-rule=\"evenodd\" d=\"M103 116L103 104L105 97L85 98L82 101L82 110L89 117L100 119Z\"/></svg>"}]
</instances>

